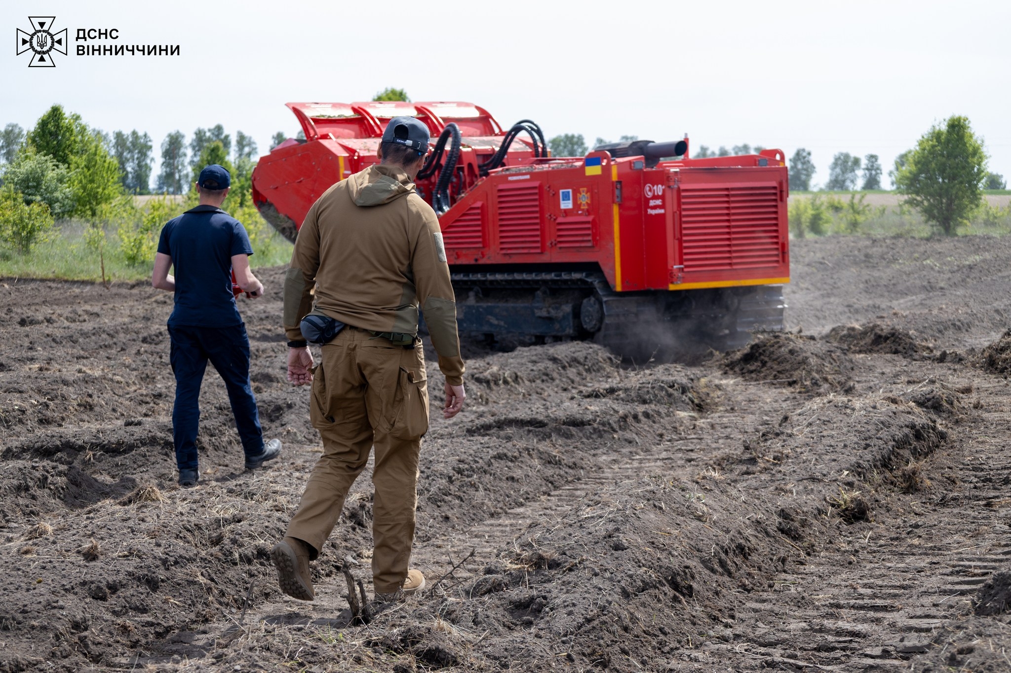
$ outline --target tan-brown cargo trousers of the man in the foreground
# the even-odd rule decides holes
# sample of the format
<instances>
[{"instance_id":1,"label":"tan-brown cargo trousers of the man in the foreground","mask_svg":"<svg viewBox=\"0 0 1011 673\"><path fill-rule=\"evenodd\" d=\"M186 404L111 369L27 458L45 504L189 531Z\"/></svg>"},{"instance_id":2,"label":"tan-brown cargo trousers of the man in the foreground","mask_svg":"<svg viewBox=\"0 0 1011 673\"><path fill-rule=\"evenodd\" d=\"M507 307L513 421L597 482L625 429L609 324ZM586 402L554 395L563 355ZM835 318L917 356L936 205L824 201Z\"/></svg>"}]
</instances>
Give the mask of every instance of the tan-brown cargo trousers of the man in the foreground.
<instances>
[{"instance_id":1,"label":"tan-brown cargo trousers of the man in the foreground","mask_svg":"<svg viewBox=\"0 0 1011 673\"><path fill-rule=\"evenodd\" d=\"M347 327L323 347L312 378L309 415L323 437L316 461L287 535L315 558L344 508L344 498L375 447L372 483L372 578L391 593L407 577L418 501L418 456L429 427L422 345L394 346Z\"/></svg>"}]
</instances>

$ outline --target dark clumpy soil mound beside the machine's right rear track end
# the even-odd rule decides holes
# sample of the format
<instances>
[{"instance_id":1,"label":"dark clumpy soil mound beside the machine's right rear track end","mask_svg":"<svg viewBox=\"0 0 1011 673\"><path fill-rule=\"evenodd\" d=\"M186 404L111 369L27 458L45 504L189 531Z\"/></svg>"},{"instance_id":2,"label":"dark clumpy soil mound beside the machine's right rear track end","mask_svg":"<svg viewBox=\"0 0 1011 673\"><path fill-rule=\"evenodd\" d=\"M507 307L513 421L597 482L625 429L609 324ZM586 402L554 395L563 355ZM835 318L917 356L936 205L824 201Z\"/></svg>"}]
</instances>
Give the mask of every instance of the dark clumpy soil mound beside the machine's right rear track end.
<instances>
[{"instance_id":1,"label":"dark clumpy soil mound beside the machine's right rear track end","mask_svg":"<svg viewBox=\"0 0 1011 673\"><path fill-rule=\"evenodd\" d=\"M758 334L751 345L727 353L723 369L748 380L792 385L799 390L848 391L854 365L835 344L811 336Z\"/></svg>"}]
</instances>

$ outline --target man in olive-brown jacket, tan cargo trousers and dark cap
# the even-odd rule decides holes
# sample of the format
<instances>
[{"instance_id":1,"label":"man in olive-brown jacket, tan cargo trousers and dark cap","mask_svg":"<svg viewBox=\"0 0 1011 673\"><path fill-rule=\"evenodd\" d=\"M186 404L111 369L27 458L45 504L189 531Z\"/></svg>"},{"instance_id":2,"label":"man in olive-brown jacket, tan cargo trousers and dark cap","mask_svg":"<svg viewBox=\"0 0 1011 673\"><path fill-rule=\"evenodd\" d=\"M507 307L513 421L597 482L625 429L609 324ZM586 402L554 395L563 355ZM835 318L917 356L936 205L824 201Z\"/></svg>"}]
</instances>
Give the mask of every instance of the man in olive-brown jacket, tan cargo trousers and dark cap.
<instances>
[{"instance_id":1,"label":"man in olive-brown jacket, tan cargo trousers and dark cap","mask_svg":"<svg viewBox=\"0 0 1011 673\"><path fill-rule=\"evenodd\" d=\"M285 538L271 552L281 590L295 598L312 600L309 561L334 530L373 446L375 593L391 599L425 588L425 576L408 569L419 452L429 427L419 307L446 376L443 417L456 416L464 400L456 302L439 220L415 192L428 151L422 122L392 119L379 164L334 185L313 204L285 275L288 380L311 381L309 415L324 444ZM327 337L345 325L323 346L323 362L314 368L299 327L303 318L327 328Z\"/></svg>"}]
</instances>

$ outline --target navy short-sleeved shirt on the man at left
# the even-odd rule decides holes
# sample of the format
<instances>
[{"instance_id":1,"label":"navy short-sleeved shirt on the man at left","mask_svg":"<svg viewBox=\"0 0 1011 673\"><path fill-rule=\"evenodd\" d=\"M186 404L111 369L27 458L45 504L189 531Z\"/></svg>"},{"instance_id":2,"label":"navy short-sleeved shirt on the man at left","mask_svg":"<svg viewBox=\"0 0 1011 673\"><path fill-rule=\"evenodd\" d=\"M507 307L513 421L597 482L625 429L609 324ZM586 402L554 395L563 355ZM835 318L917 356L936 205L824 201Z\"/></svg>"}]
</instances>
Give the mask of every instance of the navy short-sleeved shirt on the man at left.
<instances>
[{"instance_id":1,"label":"navy short-sleeved shirt on the man at left","mask_svg":"<svg viewBox=\"0 0 1011 673\"><path fill-rule=\"evenodd\" d=\"M197 206L162 228L158 251L175 266L176 306L169 325L242 324L232 294L232 257L253 254L242 222L220 208Z\"/></svg>"}]
</instances>

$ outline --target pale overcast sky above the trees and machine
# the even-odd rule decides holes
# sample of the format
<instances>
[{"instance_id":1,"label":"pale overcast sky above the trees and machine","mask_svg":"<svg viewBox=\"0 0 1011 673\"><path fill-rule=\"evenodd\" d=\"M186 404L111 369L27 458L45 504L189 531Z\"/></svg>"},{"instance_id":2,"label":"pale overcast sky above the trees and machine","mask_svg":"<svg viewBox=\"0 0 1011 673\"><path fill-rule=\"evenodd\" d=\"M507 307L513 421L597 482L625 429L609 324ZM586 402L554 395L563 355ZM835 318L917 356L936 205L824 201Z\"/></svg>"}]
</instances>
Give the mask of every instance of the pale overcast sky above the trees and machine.
<instances>
[{"instance_id":1,"label":"pale overcast sky above the trees and machine","mask_svg":"<svg viewBox=\"0 0 1011 673\"><path fill-rule=\"evenodd\" d=\"M285 102L368 100L393 86L587 142L686 132L696 147L807 147L819 184L835 152L877 153L887 173L931 124L962 114L991 171L1011 177L1007 0L4 0L9 39L30 30L29 15L56 16L70 53L29 69L29 53L7 47L0 125L30 128L62 103L106 131L149 132L156 154L169 131L188 139L216 123L265 153L274 132L298 130ZM180 55L77 55L77 28L117 28L104 44L179 44Z\"/></svg>"}]
</instances>

